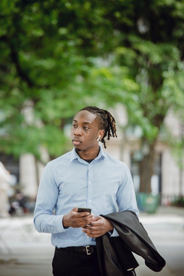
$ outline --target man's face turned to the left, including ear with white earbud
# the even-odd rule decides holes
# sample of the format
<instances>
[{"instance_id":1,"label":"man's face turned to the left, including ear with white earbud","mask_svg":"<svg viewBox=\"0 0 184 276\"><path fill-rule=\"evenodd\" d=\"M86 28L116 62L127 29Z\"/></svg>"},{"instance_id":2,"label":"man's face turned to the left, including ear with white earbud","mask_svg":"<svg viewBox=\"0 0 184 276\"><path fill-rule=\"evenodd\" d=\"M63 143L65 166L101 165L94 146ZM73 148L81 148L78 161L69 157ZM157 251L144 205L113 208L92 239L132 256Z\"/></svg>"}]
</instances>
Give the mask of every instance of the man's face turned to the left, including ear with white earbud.
<instances>
[{"instance_id":1,"label":"man's face turned to the left, including ear with white earbud","mask_svg":"<svg viewBox=\"0 0 184 276\"><path fill-rule=\"evenodd\" d=\"M98 130L96 116L87 111L79 111L72 122L71 139L75 150L89 150L98 145L97 138L104 135L104 130Z\"/></svg>"}]
</instances>

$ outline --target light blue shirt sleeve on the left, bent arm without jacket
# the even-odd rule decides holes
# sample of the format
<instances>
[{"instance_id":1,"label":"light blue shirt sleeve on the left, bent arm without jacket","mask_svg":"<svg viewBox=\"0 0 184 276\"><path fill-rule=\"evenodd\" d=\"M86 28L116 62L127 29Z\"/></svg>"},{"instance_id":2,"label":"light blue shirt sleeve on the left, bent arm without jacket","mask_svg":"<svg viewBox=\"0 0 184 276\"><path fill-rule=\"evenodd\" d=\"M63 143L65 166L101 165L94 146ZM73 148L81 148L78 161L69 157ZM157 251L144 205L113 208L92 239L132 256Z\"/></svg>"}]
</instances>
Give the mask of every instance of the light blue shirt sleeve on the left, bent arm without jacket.
<instances>
[{"instance_id":1,"label":"light blue shirt sleeve on the left, bent arm without jacket","mask_svg":"<svg viewBox=\"0 0 184 276\"><path fill-rule=\"evenodd\" d=\"M68 228L63 227L64 214L53 215L58 194L58 187L47 163L41 175L34 209L34 227L38 232L55 234L65 232Z\"/></svg>"}]
</instances>

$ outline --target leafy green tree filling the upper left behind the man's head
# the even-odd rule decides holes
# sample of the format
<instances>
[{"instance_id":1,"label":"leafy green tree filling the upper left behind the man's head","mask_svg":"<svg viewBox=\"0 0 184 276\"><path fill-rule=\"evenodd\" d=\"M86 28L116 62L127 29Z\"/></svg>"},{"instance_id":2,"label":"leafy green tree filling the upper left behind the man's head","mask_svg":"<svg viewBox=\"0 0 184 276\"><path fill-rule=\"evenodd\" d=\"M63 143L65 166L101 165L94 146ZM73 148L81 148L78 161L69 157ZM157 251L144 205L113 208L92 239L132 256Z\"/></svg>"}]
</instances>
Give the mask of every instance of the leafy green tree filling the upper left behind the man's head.
<instances>
[{"instance_id":1,"label":"leafy green tree filling the upper left behind the man's head","mask_svg":"<svg viewBox=\"0 0 184 276\"><path fill-rule=\"evenodd\" d=\"M85 105L98 105L101 95L114 97L110 89L119 75L109 81L96 64L112 48L106 9L103 2L17 0L1 2L0 10L1 150L16 157L31 152L41 161L44 145L55 158L68 148L67 119ZM122 101L122 85L116 90L114 101Z\"/></svg>"}]
</instances>

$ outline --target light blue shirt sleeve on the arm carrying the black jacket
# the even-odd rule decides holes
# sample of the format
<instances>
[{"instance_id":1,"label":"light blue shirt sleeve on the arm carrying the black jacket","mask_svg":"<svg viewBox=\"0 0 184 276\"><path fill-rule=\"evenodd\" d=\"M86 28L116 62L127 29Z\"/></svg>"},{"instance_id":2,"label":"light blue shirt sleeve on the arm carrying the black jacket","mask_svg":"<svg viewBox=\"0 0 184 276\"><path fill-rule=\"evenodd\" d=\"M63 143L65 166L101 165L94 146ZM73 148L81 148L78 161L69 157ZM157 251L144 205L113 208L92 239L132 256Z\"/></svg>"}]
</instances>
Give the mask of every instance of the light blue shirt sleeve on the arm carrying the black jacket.
<instances>
[{"instance_id":1,"label":"light blue shirt sleeve on the arm carrying the black jacket","mask_svg":"<svg viewBox=\"0 0 184 276\"><path fill-rule=\"evenodd\" d=\"M125 163L124 163L124 170L122 174L122 180L120 181L120 185L116 193L116 202L119 208L118 212L130 210L135 212L137 216L139 215L132 176L131 176L129 167ZM111 235L110 237L119 236L115 228L113 232L108 231L108 233Z\"/></svg>"}]
</instances>

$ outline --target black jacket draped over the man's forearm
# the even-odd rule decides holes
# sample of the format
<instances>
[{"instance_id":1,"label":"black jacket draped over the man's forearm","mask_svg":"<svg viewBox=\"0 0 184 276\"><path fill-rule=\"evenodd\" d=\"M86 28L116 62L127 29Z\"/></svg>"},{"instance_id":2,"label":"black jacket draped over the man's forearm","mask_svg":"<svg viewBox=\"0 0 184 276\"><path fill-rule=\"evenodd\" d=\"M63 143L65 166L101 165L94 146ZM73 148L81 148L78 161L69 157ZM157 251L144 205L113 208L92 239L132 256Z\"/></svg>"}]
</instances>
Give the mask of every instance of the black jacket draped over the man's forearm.
<instances>
[{"instance_id":1,"label":"black jacket draped over the man's forearm","mask_svg":"<svg viewBox=\"0 0 184 276\"><path fill-rule=\"evenodd\" d=\"M101 276L136 275L139 266L132 252L145 259L145 265L153 271L161 271L166 262L156 250L136 213L133 211L114 212L100 215L107 218L118 237L109 233L96 238L97 256Z\"/></svg>"}]
</instances>

